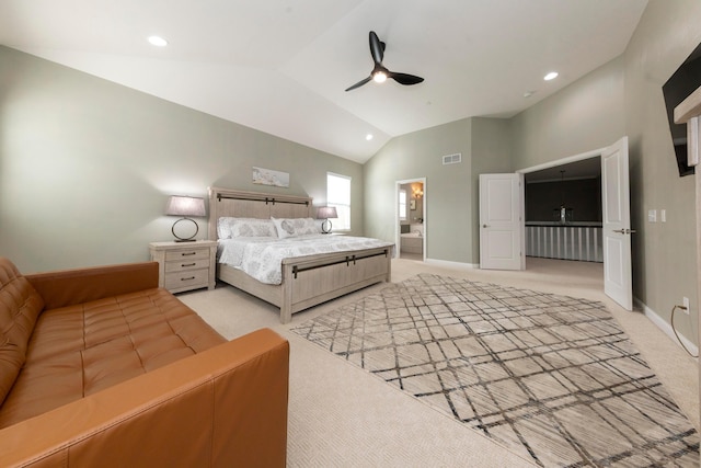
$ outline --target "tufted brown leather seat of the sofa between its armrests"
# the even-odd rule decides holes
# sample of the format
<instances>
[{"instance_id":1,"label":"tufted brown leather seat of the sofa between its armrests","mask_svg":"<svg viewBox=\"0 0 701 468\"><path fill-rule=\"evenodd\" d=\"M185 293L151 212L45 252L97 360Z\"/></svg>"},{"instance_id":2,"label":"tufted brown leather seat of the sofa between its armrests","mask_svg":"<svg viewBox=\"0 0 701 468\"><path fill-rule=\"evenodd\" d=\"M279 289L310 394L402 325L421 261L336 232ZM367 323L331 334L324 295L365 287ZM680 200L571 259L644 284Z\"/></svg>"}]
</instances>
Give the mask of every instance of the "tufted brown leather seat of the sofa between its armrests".
<instances>
[{"instance_id":1,"label":"tufted brown leather seat of the sofa between its armrests","mask_svg":"<svg viewBox=\"0 0 701 468\"><path fill-rule=\"evenodd\" d=\"M0 427L223 342L165 289L46 310L0 409Z\"/></svg>"}]
</instances>

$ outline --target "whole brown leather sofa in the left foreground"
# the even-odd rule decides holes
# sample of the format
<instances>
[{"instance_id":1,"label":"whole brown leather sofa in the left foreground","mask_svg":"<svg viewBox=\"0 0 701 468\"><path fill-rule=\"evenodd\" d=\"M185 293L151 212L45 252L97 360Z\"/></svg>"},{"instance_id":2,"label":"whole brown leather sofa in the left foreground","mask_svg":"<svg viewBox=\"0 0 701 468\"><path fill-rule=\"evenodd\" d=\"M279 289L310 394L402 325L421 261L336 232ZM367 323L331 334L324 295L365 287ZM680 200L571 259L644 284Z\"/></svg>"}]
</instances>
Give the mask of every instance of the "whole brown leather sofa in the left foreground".
<instances>
[{"instance_id":1,"label":"whole brown leather sofa in the left foreground","mask_svg":"<svg viewBox=\"0 0 701 468\"><path fill-rule=\"evenodd\" d=\"M158 264L0 258L0 466L285 466L289 344L227 341Z\"/></svg>"}]
</instances>

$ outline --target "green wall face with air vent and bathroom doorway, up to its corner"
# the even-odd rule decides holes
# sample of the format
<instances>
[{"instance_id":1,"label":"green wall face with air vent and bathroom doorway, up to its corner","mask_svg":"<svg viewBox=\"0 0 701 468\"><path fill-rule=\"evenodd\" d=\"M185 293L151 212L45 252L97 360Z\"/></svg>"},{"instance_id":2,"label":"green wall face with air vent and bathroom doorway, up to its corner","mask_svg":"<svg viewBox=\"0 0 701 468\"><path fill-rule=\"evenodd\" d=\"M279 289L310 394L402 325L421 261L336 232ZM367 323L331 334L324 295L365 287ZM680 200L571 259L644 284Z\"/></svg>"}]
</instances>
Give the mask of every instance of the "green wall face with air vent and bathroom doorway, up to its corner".
<instances>
[{"instance_id":1,"label":"green wall face with air vent and bathroom doorway, up to its corner","mask_svg":"<svg viewBox=\"0 0 701 468\"><path fill-rule=\"evenodd\" d=\"M397 182L426 178L426 258L472 261L471 119L452 122L390 140L365 163L366 235L394 240ZM443 164L443 156L462 162Z\"/></svg>"}]
</instances>

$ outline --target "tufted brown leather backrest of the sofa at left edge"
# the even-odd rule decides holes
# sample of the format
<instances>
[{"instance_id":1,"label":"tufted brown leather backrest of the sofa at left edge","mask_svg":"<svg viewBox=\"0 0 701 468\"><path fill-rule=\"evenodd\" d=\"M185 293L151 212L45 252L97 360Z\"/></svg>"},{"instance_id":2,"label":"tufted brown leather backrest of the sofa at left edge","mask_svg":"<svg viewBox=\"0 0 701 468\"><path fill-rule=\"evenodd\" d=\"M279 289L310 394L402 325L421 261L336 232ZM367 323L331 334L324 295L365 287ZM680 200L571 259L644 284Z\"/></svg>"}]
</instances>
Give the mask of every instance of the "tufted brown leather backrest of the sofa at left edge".
<instances>
[{"instance_id":1,"label":"tufted brown leather backrest of the sofa at left edge","mask_svg":"<svg viewBox=\"0 0 701 468\"><path fill-rule=\"evenodd\" d=\"M24 365L42 296L12 262L0 256L0 404Z\"/></svg>"}]
</instances>

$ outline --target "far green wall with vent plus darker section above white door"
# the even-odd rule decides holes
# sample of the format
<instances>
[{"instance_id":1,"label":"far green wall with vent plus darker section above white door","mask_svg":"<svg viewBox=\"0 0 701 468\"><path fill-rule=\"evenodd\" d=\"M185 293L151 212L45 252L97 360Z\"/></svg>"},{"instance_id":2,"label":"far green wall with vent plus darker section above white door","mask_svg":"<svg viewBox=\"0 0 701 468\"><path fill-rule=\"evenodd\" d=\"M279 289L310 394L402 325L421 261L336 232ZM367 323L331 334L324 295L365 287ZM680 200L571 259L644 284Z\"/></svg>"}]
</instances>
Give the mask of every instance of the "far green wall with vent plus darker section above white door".
<instances>
[{"instance_id":1,"label":"far green wall with vent plus darker section above white door","mask_svg":"<svg viewBox=\"0 0 701 468\"><path fill-rule=\"evenodd\" d=\"M426 178L426 259L478 265L479 174L513 170L510 128L473 117L393 138L365 164L366 233L393 240L397 181ZM444 165L455 153L462 162Z\"/></svg>"}]
</instances>

